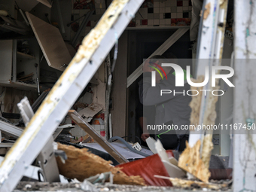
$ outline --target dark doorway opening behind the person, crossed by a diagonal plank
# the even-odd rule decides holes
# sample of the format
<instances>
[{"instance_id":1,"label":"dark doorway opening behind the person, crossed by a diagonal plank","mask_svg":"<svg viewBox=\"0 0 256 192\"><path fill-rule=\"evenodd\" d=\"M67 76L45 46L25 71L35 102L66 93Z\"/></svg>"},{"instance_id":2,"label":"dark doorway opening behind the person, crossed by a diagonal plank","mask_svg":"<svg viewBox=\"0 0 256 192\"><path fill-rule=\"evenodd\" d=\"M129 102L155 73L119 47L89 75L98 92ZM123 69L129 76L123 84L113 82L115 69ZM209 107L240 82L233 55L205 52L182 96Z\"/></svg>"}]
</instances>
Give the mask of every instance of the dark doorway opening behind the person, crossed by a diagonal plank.
<instances>
[{"instance_id":1,"label":"dark doorway opening behind the person, crossed by a diagonal plank","mask_svg":"<svg viewBox=\"0 0 256 192\"><path fill-rule=\"evenodd\" d=\"M143 62L143 59L148 58L166 41L177 29L149 29L149 30L131 30L128 32L128 69L127 77L131 75ZM192 52L190 50L190 37L187 31L172 47L169 47L163 56L169 58L170 54L174 54L178 59L191 59ZM139 105L139 85L138 78L127 89L127 134L128 136L138 136L139 120L136 117L136 107ZM133 142L138 139L133 137Z\"/></svg>"}]
</instances>

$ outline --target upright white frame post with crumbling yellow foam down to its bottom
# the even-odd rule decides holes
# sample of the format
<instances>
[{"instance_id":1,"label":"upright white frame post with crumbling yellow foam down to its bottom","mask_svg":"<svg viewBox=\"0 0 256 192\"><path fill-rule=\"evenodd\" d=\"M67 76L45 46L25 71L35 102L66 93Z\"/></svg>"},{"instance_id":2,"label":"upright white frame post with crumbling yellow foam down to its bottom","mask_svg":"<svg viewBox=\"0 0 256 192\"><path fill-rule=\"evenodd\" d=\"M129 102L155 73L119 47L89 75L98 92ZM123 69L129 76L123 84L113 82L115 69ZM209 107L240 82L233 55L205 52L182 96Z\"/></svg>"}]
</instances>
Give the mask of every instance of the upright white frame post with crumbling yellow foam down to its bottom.
<instances>
[{"instance_id":1,"label":"upright white frame post with crumbling yellow foam down to its bottom","mask_svg":"<svg viewBox=\"0 0 256 192\"><path fill-rule=\"evenodd\" d=\"M203 5L203 17L201 18L202 28L200 29L200 39L198 44L198 56L197 56L197 81L205 75L206 67L221 66L223 45L224 45L224 32L226 26L227 16L227 0L206 0ZM217 72L219 73L219 72ZM193 98L190 106L192 105L192 114L190 123L194 125L214 125L217 117L215 111L215 105L218 101L218 96L212 95L212 90L219 90L218 81L216 81L216 87L212 87L212 82L209 81L203 87L203 90L209 90L208 93L201 94ZM197 103L195 102L197 101ZM193 133L194 132L194 133ZM196 134L195 134L196 132ZM206 133L206 136L204 134ZM181 154L181 168L190 170L192 175L200 178L202 181L209 179L206 169L209 169L209 162L212 155L212 133L213 130L190 130L189 145L185 151ZM201 146L198 144L200 140ZM200 146L198 148L198 146ZM184 165L186 160L190 160L190 153L194 148L194 151L198 156L197 166L194 163ZM190 151L190 152L189 152ZM179 160L180 161L180 160ZM203 162L203 163L200 163ZM201 167L198 167L201 166ZM200 172L200 170L204 170ZM203 173L203 176L202 176ZM190 177L190 175L189 175Z\"/></svg>"}]
</instances>

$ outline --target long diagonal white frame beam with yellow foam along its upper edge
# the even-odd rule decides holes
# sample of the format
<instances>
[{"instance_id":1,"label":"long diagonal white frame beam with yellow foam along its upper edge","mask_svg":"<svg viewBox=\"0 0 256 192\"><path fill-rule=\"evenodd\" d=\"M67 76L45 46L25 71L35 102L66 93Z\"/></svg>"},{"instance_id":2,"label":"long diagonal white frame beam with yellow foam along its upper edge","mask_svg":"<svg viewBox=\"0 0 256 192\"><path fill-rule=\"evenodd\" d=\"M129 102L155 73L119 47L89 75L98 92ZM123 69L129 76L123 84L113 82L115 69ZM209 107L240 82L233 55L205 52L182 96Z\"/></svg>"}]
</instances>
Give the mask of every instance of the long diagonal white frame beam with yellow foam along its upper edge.
<instances>
[{"instance_id":1,"label":"long diagonal white frame beam with yellow foam along its upper edge","mask_svg":"<svg viewBox=\"0 0 256 192\"><path fill-rule=\"evenodd\" d=\"M142 0L114 0L96 27L84 38L47 98L0 165L0 190L12 191L56 127L89 83Z\"/></svg>"}]
</instances>

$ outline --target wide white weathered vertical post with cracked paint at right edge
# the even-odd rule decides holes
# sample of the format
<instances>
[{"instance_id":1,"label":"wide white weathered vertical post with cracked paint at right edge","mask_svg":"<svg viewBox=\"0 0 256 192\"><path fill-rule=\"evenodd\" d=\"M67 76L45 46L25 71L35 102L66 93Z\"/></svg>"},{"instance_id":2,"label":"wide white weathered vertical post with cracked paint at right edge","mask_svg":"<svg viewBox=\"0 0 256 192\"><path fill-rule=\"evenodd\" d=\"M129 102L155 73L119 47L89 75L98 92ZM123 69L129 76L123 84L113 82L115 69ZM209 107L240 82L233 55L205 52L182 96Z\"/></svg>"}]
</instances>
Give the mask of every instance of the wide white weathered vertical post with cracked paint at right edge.
<instances>
[{"instance_id":1,"label":"wide white weathered vertical post with cracked paint at right edge","mask_svg":"<svg viewBox=\"0 0 256 192\"><path fill-rule=\"evenodd\" d=\"M256 119L256 1L235 1L233 123L255 125ZM233 135L233 191L256 190L255 127Z\"/></svg>"}]
</instances>

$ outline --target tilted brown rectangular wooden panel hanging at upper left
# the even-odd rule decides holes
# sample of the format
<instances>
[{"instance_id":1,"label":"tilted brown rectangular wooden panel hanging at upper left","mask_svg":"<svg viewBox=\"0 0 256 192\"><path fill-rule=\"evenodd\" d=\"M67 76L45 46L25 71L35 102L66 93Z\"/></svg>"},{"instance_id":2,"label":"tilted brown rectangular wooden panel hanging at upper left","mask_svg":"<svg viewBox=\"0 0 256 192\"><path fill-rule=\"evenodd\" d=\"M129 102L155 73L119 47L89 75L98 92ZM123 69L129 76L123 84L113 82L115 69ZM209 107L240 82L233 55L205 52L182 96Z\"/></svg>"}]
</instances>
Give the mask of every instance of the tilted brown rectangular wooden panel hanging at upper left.
<instances>
[{"instance_id":1,"label":"tilted brown rectangular wooden panel hanging at upper left","mask_svg":"<svg viewBox=\"0 0 256 192\"><path fill-rule=\"evenodd\" d=\"M26 16L29 19L29 23L32 26L48 65L59 71L64 71L66 67L62 66L64 64L68 65L72 57L62 39L59 29L28 12L26 12Z\"/></svg>"}]
</instances>

